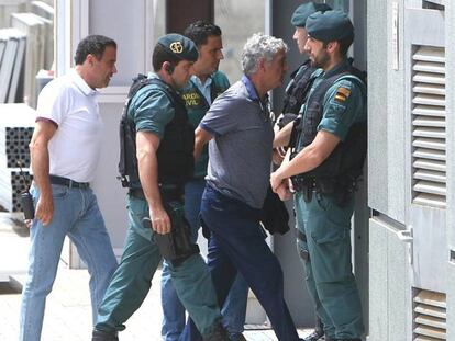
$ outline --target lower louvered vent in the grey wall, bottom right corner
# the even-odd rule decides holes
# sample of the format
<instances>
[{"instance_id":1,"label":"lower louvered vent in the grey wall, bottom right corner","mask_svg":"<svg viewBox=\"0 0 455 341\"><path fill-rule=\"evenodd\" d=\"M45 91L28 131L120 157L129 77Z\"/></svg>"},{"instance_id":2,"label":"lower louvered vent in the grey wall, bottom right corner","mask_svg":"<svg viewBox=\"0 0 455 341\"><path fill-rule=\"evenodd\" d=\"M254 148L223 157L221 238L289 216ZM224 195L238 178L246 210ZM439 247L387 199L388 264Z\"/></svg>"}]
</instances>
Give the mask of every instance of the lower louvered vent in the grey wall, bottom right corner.
<instances>
[{"instance_id":1,"label":"lower louvered vent in the grey wall, bottom right corner","mask_svg":"<svg viewBox=\"0 0 455 341\"><path fill-rule=\"evenodd\" d=\"M414 341L447 340L445 294L414 291Z\"/></svg>"}]
</instances>

